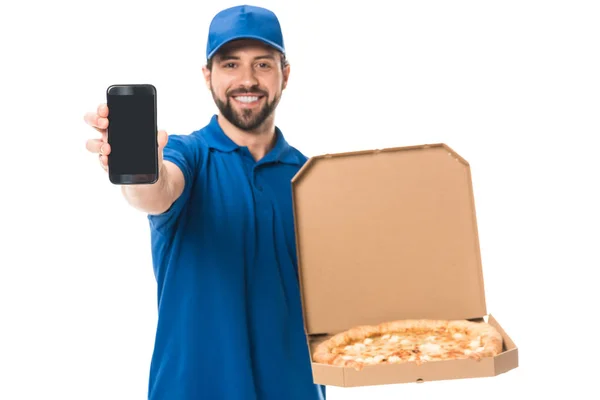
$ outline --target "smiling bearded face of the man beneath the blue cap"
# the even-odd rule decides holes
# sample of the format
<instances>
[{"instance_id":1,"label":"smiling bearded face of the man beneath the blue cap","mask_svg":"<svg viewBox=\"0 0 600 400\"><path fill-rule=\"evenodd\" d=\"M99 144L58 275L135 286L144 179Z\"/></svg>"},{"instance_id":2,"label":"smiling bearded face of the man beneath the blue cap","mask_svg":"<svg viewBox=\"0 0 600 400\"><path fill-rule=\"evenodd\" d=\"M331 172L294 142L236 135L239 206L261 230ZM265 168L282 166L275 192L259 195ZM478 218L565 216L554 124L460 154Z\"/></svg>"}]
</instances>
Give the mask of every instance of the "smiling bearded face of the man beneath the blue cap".
<instances>
[{"instance_id":1,"label":"smiling bearded face of the man beneath the blue cap","mask_svg":"<svg viewBox=\"0 0 600 400\"><path fill-rule=\"evenodd\" d=\"M219 111L236 127L253 131L273 117L289 76L280 57L260 42L240 40L214 56L212 71L204 69Z\"/></svg>"}]
</instances>

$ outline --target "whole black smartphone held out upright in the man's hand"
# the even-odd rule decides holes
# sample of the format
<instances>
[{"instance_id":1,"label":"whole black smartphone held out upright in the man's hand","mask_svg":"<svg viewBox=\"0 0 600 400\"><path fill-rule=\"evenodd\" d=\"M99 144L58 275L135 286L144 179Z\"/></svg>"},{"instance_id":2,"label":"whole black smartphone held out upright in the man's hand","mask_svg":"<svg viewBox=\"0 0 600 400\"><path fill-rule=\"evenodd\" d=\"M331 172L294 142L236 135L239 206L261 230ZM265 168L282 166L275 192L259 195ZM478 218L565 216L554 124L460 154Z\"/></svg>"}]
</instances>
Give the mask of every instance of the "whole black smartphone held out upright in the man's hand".
<instances>
[{"instance_id":1,"label":"whole black smartphone held out upright in the man's hand","mask_svg":"<svg viewBox=\"0 0 600 400\"><path fill-rule=\"evenodd\" d=\"M108 176L116 185L158 180L156 88L148 84L106 89Z\"/></svg>"}]
</instances>

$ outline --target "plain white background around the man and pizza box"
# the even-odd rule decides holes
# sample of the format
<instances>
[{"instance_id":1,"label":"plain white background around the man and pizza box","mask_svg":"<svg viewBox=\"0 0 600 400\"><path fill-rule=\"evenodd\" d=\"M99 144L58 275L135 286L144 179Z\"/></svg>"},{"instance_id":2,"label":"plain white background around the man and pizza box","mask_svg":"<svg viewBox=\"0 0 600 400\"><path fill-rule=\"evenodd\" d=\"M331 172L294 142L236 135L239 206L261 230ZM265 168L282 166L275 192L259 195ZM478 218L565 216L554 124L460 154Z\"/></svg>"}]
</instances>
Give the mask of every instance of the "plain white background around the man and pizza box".
<instances>
[{"instance_id":1,"label":"plain white background around the man and pizza box","mask_svg":"<svg viewBox=\"0 0 600 400\"><path fill-rule=\"evenodd\" d=\"M292 65L278 125L309 156L444 142L466 158L488 311L521 363L328 398L593 396L597 3L323 3L254 3L280 17ZM204 126L208 24L235 3L4 4L0 399L144 399L156 322L147 221L86 151L98 136L83 115L110 84L152 83L160 128Z\"/></svg>"}]
</instances>

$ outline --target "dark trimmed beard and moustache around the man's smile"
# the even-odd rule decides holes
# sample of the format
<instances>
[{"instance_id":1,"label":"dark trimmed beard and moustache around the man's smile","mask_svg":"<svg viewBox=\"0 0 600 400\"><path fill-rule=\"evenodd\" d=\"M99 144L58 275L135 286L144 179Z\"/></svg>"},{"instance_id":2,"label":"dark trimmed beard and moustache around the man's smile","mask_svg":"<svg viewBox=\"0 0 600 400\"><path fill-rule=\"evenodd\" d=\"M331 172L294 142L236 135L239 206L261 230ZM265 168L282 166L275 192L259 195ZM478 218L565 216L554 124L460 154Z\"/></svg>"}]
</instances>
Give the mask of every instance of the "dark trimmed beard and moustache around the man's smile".
<instances>
[{"instance_id":1,"label":"dark trimmed beard and moustache around the man's smile","mask_svg":"<svg viewBox=\"0 0 600 400\"><path fill-rule=\"evenodd\" d=\"M237 89L232 90L226 94L226 101L221 100L217 97L213 88L210 88L213 99L217 108L223 114L225 118L229 122L231 122L235 127L244 130L244 131L254 131L259 128L266 120L269 118L275 108L277 108L277 104L279 104L279 99L281 98L281 93L276 95L273 100L269 103L268 93L264 90L259 89L258 87L252 87L250 89ZM248 110L242 109L241 111L236 111L231 104L231 98L233 96L240 96L246 93L258 93L261 96L265 97L264 105L258 110Z\"/></svg>"}]
</instances>

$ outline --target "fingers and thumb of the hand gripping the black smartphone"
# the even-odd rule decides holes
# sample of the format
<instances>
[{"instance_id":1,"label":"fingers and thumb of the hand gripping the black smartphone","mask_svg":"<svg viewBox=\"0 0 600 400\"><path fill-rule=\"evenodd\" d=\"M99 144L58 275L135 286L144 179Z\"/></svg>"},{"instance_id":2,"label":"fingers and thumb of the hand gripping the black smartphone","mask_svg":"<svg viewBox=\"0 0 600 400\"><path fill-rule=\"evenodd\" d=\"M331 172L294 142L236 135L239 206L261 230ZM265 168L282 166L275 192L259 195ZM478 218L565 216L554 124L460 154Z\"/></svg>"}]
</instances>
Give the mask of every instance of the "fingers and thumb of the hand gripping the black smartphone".
<instances>
[{"instance_id":1,"label":"fingers and thumb of the hand gripping the black smartphone","mask_svg":"<svg viewBox=\"0 0 600 400\"><path fill-rule=\"evenodd\" d=\"M105 171L108 171L108 155L110 154L110 144L108 144L108 106L100 104L96 112L88 112L84 116L85 122L98 131L101 135L100 139L88 139L86 148L89 152L98 154L100 165ZM168 135L165 131L158 131L158 165L159 170L162 170L163 164L163 149L167 145Z\"/></svg>"}]
</instances>

